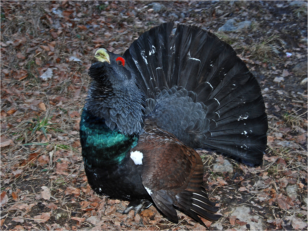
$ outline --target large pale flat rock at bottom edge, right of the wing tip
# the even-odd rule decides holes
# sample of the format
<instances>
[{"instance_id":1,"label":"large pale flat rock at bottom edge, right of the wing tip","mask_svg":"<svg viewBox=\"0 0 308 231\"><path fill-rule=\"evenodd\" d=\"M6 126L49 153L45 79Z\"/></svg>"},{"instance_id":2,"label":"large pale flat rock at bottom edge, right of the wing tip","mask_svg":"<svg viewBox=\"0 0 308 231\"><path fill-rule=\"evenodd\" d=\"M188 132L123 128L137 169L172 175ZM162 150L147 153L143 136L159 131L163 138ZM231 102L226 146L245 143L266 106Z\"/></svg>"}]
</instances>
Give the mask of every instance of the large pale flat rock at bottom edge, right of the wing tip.
<instances>
[{"instance_id":1,"label":"large pale flat rock at bottom edge, right of the wing tip","mask_svg":"<svg viewBox=\"0 0 308 231\"><path fill-rule=\"evenodd\" d=\"M262 223L262 218L252 213L251 209L247 205L237 207L230 216L235 216L240 221L247 222L250 225L250 230L265 230L266 226ZM254 222L258 221L258 222ZM240 226L236 224L235 230L247 230L246 226Z\"/></svg>"}]
</instances>

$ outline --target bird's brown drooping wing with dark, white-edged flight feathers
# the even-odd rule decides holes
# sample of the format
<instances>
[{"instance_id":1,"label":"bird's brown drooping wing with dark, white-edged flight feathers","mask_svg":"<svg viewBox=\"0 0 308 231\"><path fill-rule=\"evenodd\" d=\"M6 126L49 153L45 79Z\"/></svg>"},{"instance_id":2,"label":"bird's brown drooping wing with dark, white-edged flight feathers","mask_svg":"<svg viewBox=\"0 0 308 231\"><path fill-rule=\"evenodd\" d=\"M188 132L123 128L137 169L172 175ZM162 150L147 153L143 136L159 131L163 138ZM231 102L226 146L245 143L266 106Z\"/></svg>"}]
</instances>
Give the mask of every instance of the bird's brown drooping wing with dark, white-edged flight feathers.
<instances>
[{"instance_id":1,"label":"bird's brown drooping wing with dark, white-edged flight feathers","mask_svg":"<svg viewBox=\"0 0 308 231\"><path fill-rule=\"evenodd\" d=\"M142 183L156 206L170 220L178 222L173 205L201 223L196 213L209 220L218 220L219 216L212 214L218 208L213 207L215 204L203 192L203 164L194 149L172 134L146 125L132 151L135 150L143 153Z\"/></svg>"}]
</instances>

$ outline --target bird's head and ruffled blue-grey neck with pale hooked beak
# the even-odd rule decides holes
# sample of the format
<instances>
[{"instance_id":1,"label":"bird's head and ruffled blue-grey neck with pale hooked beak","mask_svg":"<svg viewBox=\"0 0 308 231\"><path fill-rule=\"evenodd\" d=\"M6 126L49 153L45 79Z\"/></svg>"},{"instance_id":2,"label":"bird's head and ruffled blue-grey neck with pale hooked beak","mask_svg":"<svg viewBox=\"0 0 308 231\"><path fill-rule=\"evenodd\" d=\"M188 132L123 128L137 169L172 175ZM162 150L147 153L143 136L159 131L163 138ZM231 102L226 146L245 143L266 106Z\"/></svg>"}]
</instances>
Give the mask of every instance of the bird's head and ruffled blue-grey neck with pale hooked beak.
<instances>
[{"instance_id":1,"label":"bird's head and ruffled blue-grey neck with pale hooked beak","mask_svg":"<svg viewBox=\"0 0 308 231\"><path fill-rule=\"evenodd\" d=\"M143 132L143 94L136 85L136 74L123 56L99 48L89 69L92 78L86 110L105 119L106 125L120 132Z\"/></svg>"}]
</instances>

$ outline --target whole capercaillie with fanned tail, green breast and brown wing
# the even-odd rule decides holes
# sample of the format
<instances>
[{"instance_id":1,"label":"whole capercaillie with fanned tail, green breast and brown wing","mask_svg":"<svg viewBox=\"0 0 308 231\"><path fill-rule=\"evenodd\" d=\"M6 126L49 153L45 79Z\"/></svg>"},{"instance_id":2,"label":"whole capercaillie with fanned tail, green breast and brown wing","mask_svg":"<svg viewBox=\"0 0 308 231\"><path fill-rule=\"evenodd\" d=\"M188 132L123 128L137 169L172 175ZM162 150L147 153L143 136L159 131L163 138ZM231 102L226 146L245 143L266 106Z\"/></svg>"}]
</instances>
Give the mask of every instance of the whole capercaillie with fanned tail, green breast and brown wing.
<instances>
[{"instance_id":1,"label":"whole capercaillie with fanned tail, green breast and brown wing","mask_svg":"<svg viewBox=\"0 0 308 231\"><path fill-rule=\"evenodd\" d=\"M197 26L167 22L144 32L123 55L104 48L89 68L80 120L88 183L95 193L129 201L122 213L155 205L200 224L217 221L203 162L211 149L261 163L267 115L261 88L233 48Z\"/></svg>"}]
</instances>

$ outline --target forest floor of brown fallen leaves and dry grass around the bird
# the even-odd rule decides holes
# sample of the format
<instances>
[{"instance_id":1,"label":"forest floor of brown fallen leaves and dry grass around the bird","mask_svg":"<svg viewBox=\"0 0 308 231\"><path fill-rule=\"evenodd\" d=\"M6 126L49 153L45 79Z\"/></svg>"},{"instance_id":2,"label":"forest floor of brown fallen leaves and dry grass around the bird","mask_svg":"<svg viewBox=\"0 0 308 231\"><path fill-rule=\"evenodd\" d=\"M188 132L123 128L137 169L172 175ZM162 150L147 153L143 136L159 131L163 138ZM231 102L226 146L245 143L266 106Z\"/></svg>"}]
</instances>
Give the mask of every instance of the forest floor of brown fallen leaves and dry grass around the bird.
<instances>
[{"instance_id":1,"label":"forest floor of brown fallen leaves and dry grass around the bird","mask_svg":"<svg viewBox=\"0 0 308 231\"><path fill-rule=\"evenodd\" d=\"M229 19L234 28L218 30ZM222 214L204 220L207 229L307 230L306 1L1 1L1 230L205 229L180 212L179 224L169 222L154 206L118 213L128 202L93 193L81 157L95 50L123 54L168 21L231 44L260 83L268 114L260 166L200 153ZM230 173L213 171L225 161Z\"/></svg>"}]
</instances>

